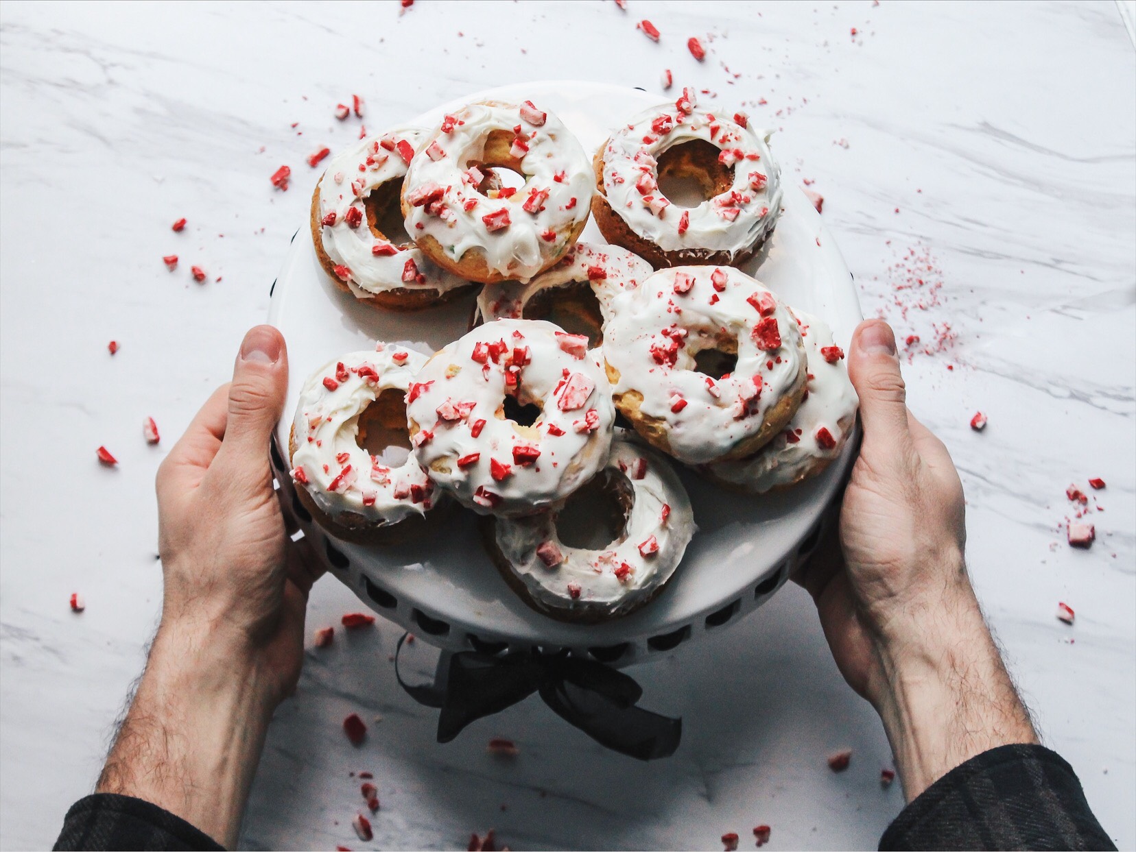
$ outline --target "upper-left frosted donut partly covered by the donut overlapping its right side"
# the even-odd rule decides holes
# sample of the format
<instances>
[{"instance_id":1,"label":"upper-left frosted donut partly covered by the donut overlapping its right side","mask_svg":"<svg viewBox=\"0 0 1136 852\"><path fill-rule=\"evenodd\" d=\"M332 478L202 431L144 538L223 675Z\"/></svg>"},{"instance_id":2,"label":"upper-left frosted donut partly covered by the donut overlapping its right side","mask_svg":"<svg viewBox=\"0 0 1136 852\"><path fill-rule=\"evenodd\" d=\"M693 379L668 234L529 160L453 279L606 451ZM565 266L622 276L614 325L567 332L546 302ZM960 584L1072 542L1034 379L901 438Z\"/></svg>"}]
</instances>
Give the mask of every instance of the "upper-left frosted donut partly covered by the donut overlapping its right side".
<instances>
[{"instance_id":1,"label":"upper-left frosted donut partly covered by the donut overlapping its right side","mask_svg":"<svg viewBox=\"0 0 1136 852\"><path fill-rule=\"evenodd\" d=\"M311 196L311 237L327 275L374 307L410 311L444 302L469 282L389 237L407 163L426 130L402 127L337 154ZM394 219L396 223L399 219ZM399 226L401 227L401 226Z\"/></svg>"}]
</instances>

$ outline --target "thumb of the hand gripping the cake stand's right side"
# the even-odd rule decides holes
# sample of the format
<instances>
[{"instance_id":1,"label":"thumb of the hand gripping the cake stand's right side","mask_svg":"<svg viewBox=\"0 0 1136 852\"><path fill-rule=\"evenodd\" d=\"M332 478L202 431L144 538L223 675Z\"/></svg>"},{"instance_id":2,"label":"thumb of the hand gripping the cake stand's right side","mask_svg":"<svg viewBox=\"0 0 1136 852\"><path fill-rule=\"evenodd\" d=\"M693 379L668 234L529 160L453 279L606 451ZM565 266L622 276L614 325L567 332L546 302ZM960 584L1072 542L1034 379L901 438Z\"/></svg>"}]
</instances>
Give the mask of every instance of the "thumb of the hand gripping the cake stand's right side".
<instances>
[{"instance_id":1,"label":"thumb of the hand gripping the cake stand's right side","mask_svg":"<svg viewBox=\"0 0 1136 852\"><path fill-rule=\"evenodd\" d=\"M909 442L907 388L895 334L883 320L861 322L852 335L849 378L860 397L864 442Z\"/></svg>"}]
</instances>

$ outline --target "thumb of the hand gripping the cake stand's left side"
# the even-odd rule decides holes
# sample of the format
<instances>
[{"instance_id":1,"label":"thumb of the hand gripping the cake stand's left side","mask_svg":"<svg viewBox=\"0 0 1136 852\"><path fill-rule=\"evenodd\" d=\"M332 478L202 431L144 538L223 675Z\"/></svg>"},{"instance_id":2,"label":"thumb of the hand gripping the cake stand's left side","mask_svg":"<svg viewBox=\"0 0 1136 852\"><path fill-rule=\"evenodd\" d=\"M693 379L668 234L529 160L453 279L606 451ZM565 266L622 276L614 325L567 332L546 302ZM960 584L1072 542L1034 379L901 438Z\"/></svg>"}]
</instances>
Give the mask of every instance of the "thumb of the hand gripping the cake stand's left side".
<instances>
[{"instance_id":1,"label":"thumb of the hand gripping the cake stand's left side","mask_svg":"<svg viewBox=\"0 0 1136 852\"><path fill-rule=\"evenodd\" d=\"M281 332L257 326L241 341L228 386L228 417L219 456L268 464L268 440L287 391L287 349Z\"/></svg>"}]
</instances>

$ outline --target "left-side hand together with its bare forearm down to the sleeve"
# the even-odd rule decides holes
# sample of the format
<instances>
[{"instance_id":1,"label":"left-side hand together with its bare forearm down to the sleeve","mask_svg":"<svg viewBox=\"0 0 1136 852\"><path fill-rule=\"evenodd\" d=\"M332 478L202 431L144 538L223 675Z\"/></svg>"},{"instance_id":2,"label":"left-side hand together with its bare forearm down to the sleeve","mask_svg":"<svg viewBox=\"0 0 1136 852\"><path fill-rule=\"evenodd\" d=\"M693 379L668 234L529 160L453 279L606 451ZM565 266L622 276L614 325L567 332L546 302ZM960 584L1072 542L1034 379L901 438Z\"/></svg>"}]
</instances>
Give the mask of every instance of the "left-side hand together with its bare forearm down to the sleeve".
<instances>
[{"instance_id":1,"label":"left-side hand together with its bare forearm down to the sleeve","mask_svg":"<svg viewBox=\"0 0 1136 852\"><path fill-rule=\"evenodd\" d=\"M319 576L307 542L287 537L268 464L286 385L279 332L251 329L232 383L158 471L161 623L95 787L153 802L228 846L273 710L299 678Z\"/></svg>"}]
</instances>

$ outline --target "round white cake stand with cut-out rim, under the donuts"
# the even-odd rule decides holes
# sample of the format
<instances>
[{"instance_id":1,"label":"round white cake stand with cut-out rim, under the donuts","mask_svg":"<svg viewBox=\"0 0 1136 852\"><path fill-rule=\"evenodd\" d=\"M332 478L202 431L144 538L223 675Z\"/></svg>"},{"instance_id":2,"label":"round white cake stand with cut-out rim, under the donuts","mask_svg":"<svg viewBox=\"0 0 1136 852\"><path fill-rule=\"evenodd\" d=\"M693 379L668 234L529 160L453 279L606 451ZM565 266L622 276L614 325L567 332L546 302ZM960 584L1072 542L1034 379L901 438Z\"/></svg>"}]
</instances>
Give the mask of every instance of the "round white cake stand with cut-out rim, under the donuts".
<instances>
[{"instance_id":1,"label":"round white cake stand with cut-out rim, under the donuts","mask_svg":"<svg viewBox=\"0 0 1136 852\"><path fill-rule=\"evenodd\" d=\"M663 101L640 90L596 83L526 83L468 95L410 124L433 126L461 103L487 99L533 100L556 112L586 151L595 151L636 112ZM787 160L785 151L777 153ZM772 238L744 269L788 304L825 319L836 341L846 346L861 319L852 276L800 189L786 187L784 208ZM604 242L594 222L588 222L583 239ZM382 313L358 304L327 279L307 222L293 238L273 287L268 321L284 334L291 363L287 405L273 447L277 481L290 498L285 504L293 520L326 559L328 571L385 618L448 650L568 648L621 667L666 656L757 609L832 522L826 508L838 495L857 436L821 475L761 498L724 491L680 470L699 525L682 565L650 605L599 625L565 624L526 606L485 555L471 513L456 512L444 534L407 546L366 547L327 534L295 499L287 475L289 428L306 377L335 356L370 348L376 340L433 352L468 330L471 306L471 297L420 313Z\"/></svg>"}]
</instances>

